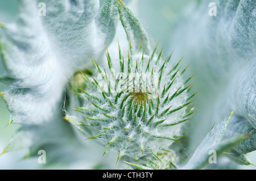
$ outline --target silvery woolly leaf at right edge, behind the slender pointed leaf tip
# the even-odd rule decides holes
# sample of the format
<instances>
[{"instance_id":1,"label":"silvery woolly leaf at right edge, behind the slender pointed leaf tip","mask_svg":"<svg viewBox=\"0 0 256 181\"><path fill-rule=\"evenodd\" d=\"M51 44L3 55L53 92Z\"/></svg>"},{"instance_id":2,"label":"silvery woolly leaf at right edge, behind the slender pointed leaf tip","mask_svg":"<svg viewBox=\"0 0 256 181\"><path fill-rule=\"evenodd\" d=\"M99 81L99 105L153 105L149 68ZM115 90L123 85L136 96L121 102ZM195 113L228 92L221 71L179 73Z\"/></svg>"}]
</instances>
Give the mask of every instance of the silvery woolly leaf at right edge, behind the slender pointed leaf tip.
<instances>
[{"instance_id":1,"label":"silvery woolly leaf at right edge, behind the slender pointed leaf tip","mask_svg":"<svg viewBox=\"0 0 256 181\"><path fill-rule=\"evenodd\" d=\"M235 153L246 154L256 150L256 61L238 71L232 79L224 94L216 104L216 118L230 111L234 105L238 110L230 120L225 137L233 137L238 134L247 134L249 137L234 148ZM220 110L222 105L226 105Z\"/></svg>"}]
</instances>

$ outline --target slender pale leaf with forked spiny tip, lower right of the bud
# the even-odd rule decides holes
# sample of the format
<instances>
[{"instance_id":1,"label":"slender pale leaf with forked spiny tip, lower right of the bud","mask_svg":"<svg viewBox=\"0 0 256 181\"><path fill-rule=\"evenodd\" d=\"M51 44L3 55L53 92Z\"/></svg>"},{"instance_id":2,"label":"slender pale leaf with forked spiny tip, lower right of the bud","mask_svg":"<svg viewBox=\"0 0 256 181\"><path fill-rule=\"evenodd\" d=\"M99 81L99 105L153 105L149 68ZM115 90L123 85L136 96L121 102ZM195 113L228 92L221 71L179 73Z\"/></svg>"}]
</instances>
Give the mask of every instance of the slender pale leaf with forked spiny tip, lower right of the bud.
<instances>
[{"instance_id":1,"label":"slender pale leaf with forked spiny tip, lower right of the bud","mask_svg":"<svg viewBox=\"0 0 256 181\"><path fill-rule=\"evenodd\" d=\"M230 113L226 119L223 119L218 123L212 130L205 136L204 140L197 147L192 157L189 159L188 163L181 167L180 169L184 170L195 170L195 169L203 169L209 163L209 157L212 154L212 150L216 151L216 157L224 153L224 151L229 150L238 142L244 140L247 136L240 135L237 137L228 138L226 140L222 140L224 136L226 127L228 126L230 117L234 111Z\"/></svg>"}]
</instances>

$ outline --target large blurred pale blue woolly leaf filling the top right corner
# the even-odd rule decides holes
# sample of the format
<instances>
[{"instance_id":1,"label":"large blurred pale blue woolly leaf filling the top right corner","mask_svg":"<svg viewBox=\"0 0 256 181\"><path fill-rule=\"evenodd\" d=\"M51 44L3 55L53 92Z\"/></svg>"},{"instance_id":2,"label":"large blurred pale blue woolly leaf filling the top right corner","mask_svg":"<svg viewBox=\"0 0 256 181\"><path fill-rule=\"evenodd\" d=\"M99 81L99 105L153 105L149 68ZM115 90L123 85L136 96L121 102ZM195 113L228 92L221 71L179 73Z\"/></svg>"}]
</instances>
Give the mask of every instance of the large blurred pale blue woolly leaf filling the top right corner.
<instances>
[{"instance_id":1,"label":"large blurred pale blue woolly leaf filling the top right corner","mask_svg":"<svg viewBox=\"0 0 256 181\"><path fill-rule=\"evenodd\" d=\"M199 84L218 91L217 84L225 86L237 70L255 60L256 2L218 0L216 16L210 16L211 2L192 2L185 9L170 45L179 52L177 56L184 54L193 62Z\"/></svg>"}]
</instances>

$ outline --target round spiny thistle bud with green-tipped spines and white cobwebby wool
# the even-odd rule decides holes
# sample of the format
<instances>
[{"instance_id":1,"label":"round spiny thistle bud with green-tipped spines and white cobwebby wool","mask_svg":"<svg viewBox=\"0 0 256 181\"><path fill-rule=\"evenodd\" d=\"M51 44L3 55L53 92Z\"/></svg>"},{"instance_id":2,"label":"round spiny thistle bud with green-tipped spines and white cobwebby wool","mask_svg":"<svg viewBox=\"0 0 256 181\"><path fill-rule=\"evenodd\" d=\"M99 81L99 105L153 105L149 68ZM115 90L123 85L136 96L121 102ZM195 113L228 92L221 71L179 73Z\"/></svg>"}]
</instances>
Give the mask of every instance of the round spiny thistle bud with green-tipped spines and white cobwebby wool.
<instances>
[{"instance_id":1,"label":"round spiny thistle bud with green-tipped spines and white cobwebby wool","mask_svg":"<svg viewBox=\"0 0 256 181\"><path fill-rule=\"evenodd\" d=\"M184 137L180 123L195 112L191 98L197 92L187 94L193 75L184 81L181 75L187 68L180 70L182 58L170 68L172 53L164 61L162 50L156 55L157 49L158 45L147 56L133 54L130 48L123 57L119 48L119 60L112 60L107 49L108 69L100 68L92 59L96 76L83 73L88 89L75 93L84 100L84 106L74 107L82 119L68 114L65 119L89 134L88 139L101 140L106 146L104 154L115 150L118 159L128 155L138 161L142 156L156 156Z\"/></svg>"}]
</instances>

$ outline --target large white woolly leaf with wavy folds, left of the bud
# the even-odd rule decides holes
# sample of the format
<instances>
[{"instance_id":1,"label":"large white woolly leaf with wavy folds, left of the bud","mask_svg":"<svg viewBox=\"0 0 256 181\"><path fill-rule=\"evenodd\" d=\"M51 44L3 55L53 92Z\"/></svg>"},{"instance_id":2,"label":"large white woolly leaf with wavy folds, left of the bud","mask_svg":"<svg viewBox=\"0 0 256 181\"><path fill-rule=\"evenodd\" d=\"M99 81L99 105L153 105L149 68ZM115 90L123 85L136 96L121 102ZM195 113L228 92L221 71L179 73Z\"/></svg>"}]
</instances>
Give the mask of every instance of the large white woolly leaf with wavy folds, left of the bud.
<instances>
[{"instance_id":1,"label":"large white woolly leaf with wavy folds, left of the bud","mask_svg":"<svg viewBox=\"0 0 256 181\"><path fill-rule=\"evenodd\" d=\"M46 5L39 16L38 3ZM110 44L118 21L117 2L19 1L15 23L0 27L0 54L10 89L1 95L11 122L39 124L51 120L65 83L89 56L98 58Z\"/></svg>"}]
</instances>

